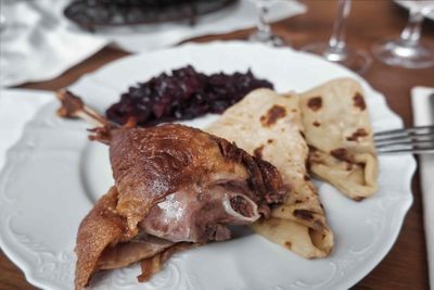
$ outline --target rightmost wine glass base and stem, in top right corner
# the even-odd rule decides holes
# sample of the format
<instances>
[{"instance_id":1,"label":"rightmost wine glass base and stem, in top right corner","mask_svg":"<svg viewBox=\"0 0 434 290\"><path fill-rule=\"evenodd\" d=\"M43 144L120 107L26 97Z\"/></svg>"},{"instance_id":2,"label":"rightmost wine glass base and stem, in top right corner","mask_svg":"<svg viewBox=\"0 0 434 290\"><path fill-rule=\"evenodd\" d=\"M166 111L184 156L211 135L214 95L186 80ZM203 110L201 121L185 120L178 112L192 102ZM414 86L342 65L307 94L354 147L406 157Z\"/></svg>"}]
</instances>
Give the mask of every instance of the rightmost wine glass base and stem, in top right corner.
<instances>
[{"instance_id":1,"label":"rightmost wine glass base and stem, in top right corner","mask_svg":"<svg viewBox=\"0 0 434 290\"><path fill-rule=\"evenodd\" d=\"M434 1L411 2L408 23L399 38L388 38L372 46L372 53L383 63L407 68L434 66L434 46L421 42L422 22L434 11Z\"/></svg>"}]
</instances>

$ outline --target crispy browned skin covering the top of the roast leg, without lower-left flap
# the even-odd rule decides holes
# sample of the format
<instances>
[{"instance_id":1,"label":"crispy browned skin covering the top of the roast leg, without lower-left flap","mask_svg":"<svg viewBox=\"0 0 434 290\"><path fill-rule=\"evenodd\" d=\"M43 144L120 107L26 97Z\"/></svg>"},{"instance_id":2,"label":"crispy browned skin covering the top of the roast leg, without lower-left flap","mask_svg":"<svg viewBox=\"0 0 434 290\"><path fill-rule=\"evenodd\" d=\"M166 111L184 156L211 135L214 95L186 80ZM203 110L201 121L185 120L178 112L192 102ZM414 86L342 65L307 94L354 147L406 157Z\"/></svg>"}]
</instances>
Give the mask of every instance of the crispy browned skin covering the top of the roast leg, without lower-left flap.
<instances>
[{"instance_id":1,"label":"crispy browned skin covering the top of the roast leg, without lower-left flap","mask_svg":"<svg viewBox=\"0 0 434 290\"><path fill-rule=\"evenodd\" d=\"M111 138L110 156L119 192L116 210L127 217L130 230L166 196L213 179L250 178L255 202L265 203L260 199L268 199L268 192L280 192L268 202L283 200L276 167L202 130L168 124L115 129Z\"/></svg>"}]
</instances>

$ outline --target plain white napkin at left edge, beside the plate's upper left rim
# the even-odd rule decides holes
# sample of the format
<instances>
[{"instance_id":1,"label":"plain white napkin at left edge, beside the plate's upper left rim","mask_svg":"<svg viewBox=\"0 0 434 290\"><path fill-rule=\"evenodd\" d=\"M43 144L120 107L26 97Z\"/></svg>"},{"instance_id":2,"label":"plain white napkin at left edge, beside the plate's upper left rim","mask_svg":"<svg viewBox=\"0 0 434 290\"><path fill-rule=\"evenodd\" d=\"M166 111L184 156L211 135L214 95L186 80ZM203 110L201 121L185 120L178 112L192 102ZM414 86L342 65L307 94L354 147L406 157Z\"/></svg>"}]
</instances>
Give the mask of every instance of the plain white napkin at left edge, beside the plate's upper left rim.
<instances>
[{"instance_id":1,"label":"plain white napkin at left edge, beside the plate's upper left rim","mask_svg":"<svg viewBox=\"0 0 434 290\"><path fill-rule=\"evenodd\" d=\"M0 171L7 151L22 136L24 126L54 94L41 90L0 90Z\"/></svg>"}]
</instances>

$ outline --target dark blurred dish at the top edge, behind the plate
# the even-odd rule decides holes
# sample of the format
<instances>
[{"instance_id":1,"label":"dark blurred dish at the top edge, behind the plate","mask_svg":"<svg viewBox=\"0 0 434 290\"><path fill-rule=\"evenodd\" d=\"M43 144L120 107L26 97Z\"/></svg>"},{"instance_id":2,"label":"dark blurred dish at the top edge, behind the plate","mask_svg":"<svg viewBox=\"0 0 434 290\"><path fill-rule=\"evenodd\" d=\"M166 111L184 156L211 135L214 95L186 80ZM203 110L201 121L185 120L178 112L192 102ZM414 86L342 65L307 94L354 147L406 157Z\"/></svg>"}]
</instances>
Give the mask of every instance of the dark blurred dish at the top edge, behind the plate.
<instances>
[{"instance_id":1,"label":"dark blurred dish at the top edge, behind the plate","mask_svg":"<svg viewBox=\"0 0 434 290\"><path fill-rule=\"evenodd\" d=\"M227 8L237 0L75 0L65 16L87 29L98 26L189 21Z\"/></svg>"}]
</instances>

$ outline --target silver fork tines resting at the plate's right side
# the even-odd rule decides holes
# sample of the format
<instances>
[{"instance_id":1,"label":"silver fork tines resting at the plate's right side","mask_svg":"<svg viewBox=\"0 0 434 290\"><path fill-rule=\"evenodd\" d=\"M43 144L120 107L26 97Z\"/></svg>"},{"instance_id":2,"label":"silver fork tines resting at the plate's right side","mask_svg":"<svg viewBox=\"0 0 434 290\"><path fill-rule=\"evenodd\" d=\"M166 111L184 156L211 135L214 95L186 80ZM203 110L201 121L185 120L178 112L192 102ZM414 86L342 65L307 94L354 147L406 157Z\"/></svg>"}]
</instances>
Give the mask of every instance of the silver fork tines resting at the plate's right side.
<instances>
[{"instance_id":1,"label":"silver fork tines resting at the plate's right side","mask_svg":"<svg viewBox=\"0 0 434 290\"><path fill-rule=\"evenodd\" d=\"M373 141L379 154L434 153L434 125L375 133Z\"/></svg>"}]
</instances>

